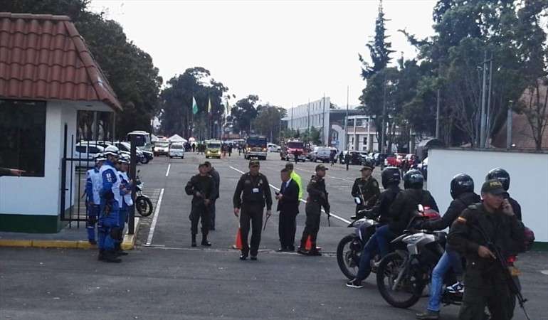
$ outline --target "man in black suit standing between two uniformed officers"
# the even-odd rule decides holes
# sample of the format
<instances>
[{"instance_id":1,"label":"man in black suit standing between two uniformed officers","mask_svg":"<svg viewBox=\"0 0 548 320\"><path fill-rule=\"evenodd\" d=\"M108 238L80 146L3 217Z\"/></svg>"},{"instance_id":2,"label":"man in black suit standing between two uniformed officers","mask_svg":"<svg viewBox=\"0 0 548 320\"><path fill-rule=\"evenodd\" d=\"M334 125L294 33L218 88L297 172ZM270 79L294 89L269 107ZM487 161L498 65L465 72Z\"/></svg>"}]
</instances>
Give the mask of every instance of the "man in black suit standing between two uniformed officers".
<instances>
[{"instance_id":1,"label":"man in black suit standing between two uniformed officers","mask_svg":"<svg viewBox=\"0 0 548 320\"><path fill-rule=\"evenodd\" d=\"M282 169L282 186L280 192L276 193L278 200L277 211L280 211L280 223L278 233L280 235L280 249L278 252L295 251L295 231L297 223L295 218L299 213L299 186L290 177L290 170Z\"/></svg>"}]
</instances>

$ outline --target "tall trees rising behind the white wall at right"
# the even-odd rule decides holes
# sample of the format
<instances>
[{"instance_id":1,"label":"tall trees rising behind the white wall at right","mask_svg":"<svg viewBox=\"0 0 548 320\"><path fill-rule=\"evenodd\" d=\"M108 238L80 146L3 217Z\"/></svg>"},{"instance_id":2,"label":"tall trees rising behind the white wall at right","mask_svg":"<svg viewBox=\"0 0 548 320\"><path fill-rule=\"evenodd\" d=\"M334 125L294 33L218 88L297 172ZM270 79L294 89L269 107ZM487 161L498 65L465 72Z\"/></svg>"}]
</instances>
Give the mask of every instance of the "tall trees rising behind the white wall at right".
<instances>
[{"instance_id":1,"label":"tall trees rising behind the white wall at right","mask_svg":"<svg viewBox=\"0 0 548 320\"><path fill-rule=\"evenodd\" d=\"M383 119L389 149L406 144L411 129L433 136L439 103L439 138L448 145L478 146L484 104L487 137L500 129L511 107L527 116L540 149L548 116L547 15L547 0L439 0L433 10L436 34L418 39L400 30L419 54L391 66L394 50L380 4L375 37L367 43L371 61L359 56L367 81L362 109L376 116L379 137ZM483 85L484 75L489 85Z\"/></svg>"}]
</instances>

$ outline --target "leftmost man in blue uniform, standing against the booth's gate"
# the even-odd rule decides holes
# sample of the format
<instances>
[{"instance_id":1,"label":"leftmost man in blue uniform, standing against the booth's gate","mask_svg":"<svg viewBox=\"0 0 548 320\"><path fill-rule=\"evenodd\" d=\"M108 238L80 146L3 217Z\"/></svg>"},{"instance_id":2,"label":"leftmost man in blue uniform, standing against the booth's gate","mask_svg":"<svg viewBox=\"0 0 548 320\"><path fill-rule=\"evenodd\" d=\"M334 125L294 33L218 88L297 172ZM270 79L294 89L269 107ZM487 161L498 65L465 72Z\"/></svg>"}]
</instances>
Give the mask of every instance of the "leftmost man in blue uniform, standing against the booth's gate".
<instances>
[{"instance_id":1,"label":"leftmost man in blue uniform, standing against the booth's gate","mask_svg":"<svg viewBox=\"0 0 548 320\"><path fill-rule=\"evenodd\" d=\"M88 210L88 220L86 221L85 228L88 230L88 241L92 245L97 245L97 241L95 240L95 224L99 216L101 204L99 192L102 188L99 169L105 160L103 154L98 154L95 156L95 167L85 173L85 208Z\"/></svg>"}]
</instances>

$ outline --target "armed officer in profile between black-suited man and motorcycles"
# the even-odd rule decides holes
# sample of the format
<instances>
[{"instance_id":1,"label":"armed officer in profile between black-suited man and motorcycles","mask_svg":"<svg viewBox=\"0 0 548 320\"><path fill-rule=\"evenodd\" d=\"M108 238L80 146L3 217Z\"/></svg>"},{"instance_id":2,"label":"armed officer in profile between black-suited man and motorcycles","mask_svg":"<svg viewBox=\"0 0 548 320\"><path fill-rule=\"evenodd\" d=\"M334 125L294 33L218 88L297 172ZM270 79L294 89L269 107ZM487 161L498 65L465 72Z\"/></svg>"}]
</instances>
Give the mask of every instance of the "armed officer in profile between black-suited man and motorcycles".
<instances>
[{"instance_id":1,"label":"armed officer in profile between black-suited man and motorcycles","mask_svg":"<svg viewBox=\"0 0 548 320\"><path fill-rule=\"evenodd\" d=\"M330 201L329 193L325 190L325 171L328 170L323 164L316 166L316 174L310 178L310 182L306 187L308 192L308 198L306 200L305 212L306 212L306 224L305 230L302 231L302 238L300 240L300 247L297 253L301 255L322 255L316 247L317 233L320 231L320 215L322 214L322 207L327 213L327 217L330 216ZM310 250L306 250L306 242L310 236Z\"/></svg>"}]
</instances>

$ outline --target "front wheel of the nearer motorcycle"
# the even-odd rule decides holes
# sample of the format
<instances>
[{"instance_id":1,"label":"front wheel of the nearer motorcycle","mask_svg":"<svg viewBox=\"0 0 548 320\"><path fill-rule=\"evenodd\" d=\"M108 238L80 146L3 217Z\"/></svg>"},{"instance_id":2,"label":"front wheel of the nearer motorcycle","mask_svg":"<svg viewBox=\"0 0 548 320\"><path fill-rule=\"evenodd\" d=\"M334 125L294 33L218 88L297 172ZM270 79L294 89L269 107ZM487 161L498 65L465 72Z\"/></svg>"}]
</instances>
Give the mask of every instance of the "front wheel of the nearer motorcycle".
<instances>
[{"instance_id":1,"label":"front wheel of the nearer motorcycle","mask_svg":"<svg viewBox=\"0 0 548 320\"><path fill-rule=\"evenodd\" d=\"M420 272L404 271L405 267L404 257L392 252L381 260L376 271L376 286L381 296L391 306L404 309L416 304L424 289Z\"/></svg>"}]
</instances>

